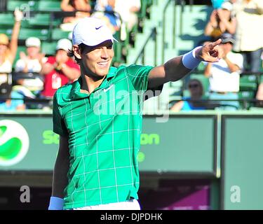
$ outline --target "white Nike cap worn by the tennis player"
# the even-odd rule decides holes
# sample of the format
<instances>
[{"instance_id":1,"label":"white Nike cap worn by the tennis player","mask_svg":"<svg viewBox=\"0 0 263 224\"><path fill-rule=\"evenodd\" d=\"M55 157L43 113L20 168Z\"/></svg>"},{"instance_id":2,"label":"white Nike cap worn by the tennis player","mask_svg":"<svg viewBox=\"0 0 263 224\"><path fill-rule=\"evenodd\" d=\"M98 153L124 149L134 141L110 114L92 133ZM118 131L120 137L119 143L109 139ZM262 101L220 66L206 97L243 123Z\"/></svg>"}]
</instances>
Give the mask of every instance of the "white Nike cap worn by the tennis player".
<instances>
[{"instance_id":1,"label":"white Nike cap worn by the tennis player","mask_svg":"<svg viewBox=\"0 0 263 224\"><path fill-rule=\"evenodd\" d=\"M116 41L104 21L97 18L84 18L73 29L72 43L74 45L84 43L88 46L95 46L108 40L111 40L112 43Z\"/></svg>"}]
</instances>

